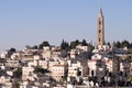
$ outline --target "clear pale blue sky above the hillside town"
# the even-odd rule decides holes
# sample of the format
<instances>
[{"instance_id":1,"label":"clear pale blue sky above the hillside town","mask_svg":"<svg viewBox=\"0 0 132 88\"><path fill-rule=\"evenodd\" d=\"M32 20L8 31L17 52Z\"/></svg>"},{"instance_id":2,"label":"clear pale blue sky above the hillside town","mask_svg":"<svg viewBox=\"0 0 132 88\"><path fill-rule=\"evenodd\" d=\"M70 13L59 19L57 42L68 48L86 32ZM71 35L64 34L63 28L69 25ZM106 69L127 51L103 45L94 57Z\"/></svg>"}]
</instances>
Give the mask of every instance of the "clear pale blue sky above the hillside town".
<instances>
[{"instance_id":1,"label":"clear pale blue sky above the hillside town","mask_svg":"<svg viewBox=\"0 0 132 88\"><path fill-rule=\"evenodd\" d=\"M132 0L0 0L0 51L63 38L95 44L100 8L106 42L132 42Z\"/></svg>"}]
</instances>

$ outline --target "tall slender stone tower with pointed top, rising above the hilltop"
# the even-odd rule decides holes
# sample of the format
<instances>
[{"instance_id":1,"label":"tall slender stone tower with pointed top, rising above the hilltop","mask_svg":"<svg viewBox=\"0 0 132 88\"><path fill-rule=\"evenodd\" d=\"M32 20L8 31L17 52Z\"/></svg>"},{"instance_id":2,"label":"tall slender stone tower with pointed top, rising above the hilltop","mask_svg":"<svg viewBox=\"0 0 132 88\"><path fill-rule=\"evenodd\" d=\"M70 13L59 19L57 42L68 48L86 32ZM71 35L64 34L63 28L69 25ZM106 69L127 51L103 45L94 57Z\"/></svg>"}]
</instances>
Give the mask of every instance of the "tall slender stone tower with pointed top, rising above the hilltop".
<instances>
[{"instance_id":1,"label":"tall slender stone tower with pointed top, rising above the hilltop","mask_svg":"<svg viewBox=\"0 0 132 88\"><path fill-rule=\"evenodd\" d=\"M102 10L100 9L97 19L97 45L102 46L105 44L105 19Z\"/></svg>"}]
</instances>

